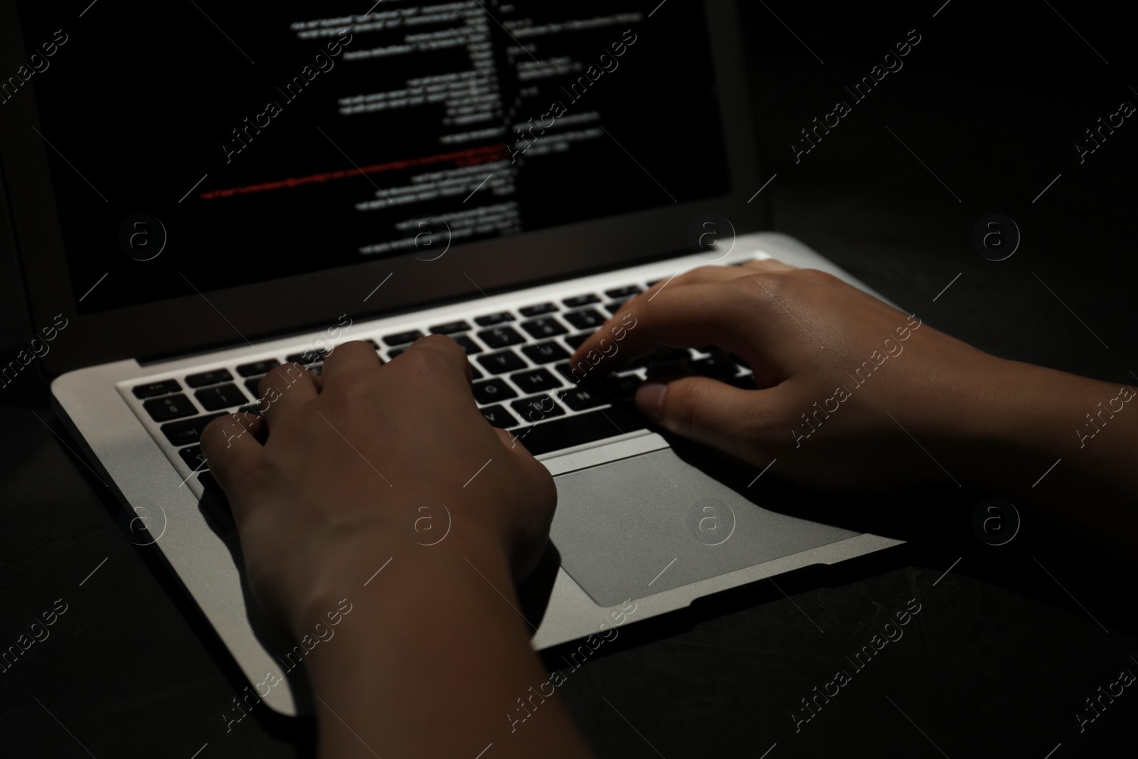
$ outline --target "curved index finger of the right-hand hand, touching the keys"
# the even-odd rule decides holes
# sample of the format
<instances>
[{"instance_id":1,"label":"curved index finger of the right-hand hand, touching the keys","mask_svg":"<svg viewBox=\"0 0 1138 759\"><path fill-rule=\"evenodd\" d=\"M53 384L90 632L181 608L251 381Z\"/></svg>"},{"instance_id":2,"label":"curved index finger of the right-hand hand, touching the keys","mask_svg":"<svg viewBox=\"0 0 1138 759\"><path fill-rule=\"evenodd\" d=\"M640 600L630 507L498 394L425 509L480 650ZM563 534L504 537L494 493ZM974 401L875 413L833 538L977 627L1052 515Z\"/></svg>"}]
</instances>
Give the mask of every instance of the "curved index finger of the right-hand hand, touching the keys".
<instances>
[{"instance_id":1,"label":"curved index finger of the right-hand hand, touching the keys","mask_svg":"<svg viewBox=\"0 0 1138 759\"><path fill-rule=\"evenodd\" d=\"M659 290L652 300L636 298L574 352L570 365L586 372L608 371L660 345L714 344L747 356L756 332L764 329L762 302L749 284L732 287L731 282L759 277L750 273L728 282L679 284Z\"/></svg>"}]
</instances>

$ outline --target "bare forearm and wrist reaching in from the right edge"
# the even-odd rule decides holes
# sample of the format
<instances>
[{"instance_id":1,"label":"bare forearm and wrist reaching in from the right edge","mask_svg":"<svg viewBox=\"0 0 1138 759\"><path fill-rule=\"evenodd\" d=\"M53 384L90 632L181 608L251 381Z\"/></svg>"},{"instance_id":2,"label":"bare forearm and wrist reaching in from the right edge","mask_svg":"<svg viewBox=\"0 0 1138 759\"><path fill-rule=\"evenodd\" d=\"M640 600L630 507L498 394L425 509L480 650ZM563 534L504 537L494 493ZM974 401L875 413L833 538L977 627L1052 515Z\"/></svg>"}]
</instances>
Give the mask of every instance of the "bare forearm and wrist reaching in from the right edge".
<instances>
[{"instance_id":1,"label":"bare forearm and wrist reaching in from the right edge","mask_svg":"<svg viewBox=\"0 0 1138 759\"><path fill-rule=\"evenodd\" d=\"M1138 398L1128 386L999 361L946 412L949 461L966 485L1138 566Z\"/></svg>"}]
</instances>

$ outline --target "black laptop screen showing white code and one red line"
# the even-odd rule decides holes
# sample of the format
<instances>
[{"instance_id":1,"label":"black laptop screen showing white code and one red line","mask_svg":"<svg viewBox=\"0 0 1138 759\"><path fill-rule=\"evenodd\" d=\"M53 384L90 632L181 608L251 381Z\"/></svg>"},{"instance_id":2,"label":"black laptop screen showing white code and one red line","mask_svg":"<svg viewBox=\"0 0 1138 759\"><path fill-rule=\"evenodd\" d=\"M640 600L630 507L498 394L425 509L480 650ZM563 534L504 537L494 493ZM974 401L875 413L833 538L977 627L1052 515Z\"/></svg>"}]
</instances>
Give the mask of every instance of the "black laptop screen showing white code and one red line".
<instances>
[{"instance_id":1,"label":"black laptop screen showing white code and one red line","mask_svg":"<svg viewBox=\"0 0 1138 759\"><path fill-rule=\"evenodd\" d=\"M702 2L17 5L80 314L732 192Z\"/></svg>"}]
</instances>

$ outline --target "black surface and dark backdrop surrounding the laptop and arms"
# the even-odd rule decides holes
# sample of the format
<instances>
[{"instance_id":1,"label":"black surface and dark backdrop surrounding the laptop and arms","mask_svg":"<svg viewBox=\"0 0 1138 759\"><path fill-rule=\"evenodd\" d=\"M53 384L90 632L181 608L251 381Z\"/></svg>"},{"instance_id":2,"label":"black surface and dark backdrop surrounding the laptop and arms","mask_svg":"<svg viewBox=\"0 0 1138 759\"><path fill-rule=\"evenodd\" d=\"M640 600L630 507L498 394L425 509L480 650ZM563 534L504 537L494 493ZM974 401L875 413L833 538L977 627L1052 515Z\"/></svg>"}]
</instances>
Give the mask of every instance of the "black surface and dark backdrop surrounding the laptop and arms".
<instances>
[{"instance_id":1,"label":"black surface and dark backdrop surrounding the laptop and arms","mask_svg":"<svg viewBox=\"0 0 1138 759\"><path fill-rule=\"evenodd\" d=\"M939 0L743 5L776 229L993 354L1135 380L1138 126L1127 119L1081 165L1072 147L1121 100L1138 104L1132 41L1113 7L951 0L933 18ZM842 86L910 28L923 39L905 67L795 165L798 130L848 99ZM989 213L1022 232L1007 261L972 247ZM60 444L44 388L25 372L0 397L0 644L55 599L69 609L0 674L2 751L82 757L81 742L100 759L188 758L203 744L201 759L310 756L311 724L266 709L225 733L220 715L245 682L152 551L123 538L118 505ZM819 508L879 509L916 539L625 627L559 691L605 757L1132 756L1132 687L1083 733L1074 718L1120 670L1138 674L1132 575L1030 517L1008 545L984 545L970 525L983 495L802 494ZM850 669L844 657L914 597L922 610L905 637L795 734L799 700ZM561 653L546 653L551 666Z\"/></svg>"}]
</instances>

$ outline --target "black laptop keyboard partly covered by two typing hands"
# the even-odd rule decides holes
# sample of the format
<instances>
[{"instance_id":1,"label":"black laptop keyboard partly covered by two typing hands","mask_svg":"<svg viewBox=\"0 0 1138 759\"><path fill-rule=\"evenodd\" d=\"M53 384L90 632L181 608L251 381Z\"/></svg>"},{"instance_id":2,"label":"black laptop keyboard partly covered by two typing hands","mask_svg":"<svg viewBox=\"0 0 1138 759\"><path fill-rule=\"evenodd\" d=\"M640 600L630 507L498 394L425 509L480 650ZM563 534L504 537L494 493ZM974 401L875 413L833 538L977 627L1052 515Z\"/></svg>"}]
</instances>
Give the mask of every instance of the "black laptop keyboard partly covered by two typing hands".
<instances>
[{"instance_id":1,"label":"black laptop keyboard partly covered by two typing hands","mask_svg":"<svg viewBox=\"0 0 1138 759\"><path fill-rule=\"evenodd\" d=\"M651 286L651 283L646 283ZM536 303L498 312L378 335L368 340L380 361L391 361L426 333L446 335L470 357L478 409L494 427L509 430L534 454L619 437L644 428L632 403L648 371L685 369L739 387L754 387L750 369L715 346L660 348L616 374L575 377L569 356L644 284L584 292L560 302ZM327 353L308 350L256 362L215 368L131 388L145 414L157 426L156 437L174 447L179 459L214 487L199 440L205 427L237 411L257 412L257 386L281 363L299 363L320 373ZM151 428L152 429L152 428Z\"/></svg>"}]
</instances>

